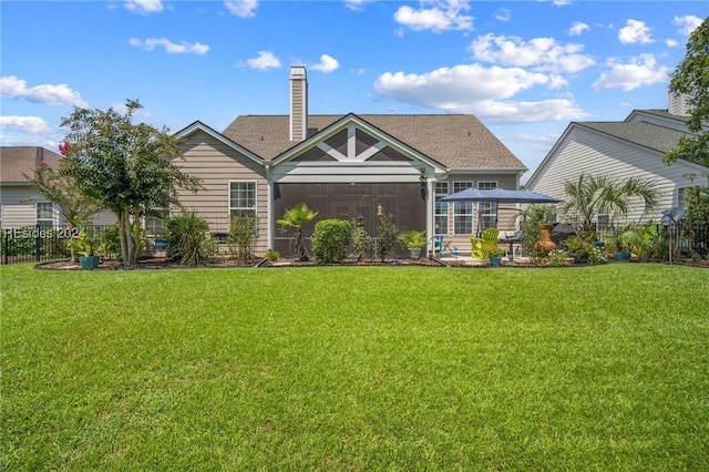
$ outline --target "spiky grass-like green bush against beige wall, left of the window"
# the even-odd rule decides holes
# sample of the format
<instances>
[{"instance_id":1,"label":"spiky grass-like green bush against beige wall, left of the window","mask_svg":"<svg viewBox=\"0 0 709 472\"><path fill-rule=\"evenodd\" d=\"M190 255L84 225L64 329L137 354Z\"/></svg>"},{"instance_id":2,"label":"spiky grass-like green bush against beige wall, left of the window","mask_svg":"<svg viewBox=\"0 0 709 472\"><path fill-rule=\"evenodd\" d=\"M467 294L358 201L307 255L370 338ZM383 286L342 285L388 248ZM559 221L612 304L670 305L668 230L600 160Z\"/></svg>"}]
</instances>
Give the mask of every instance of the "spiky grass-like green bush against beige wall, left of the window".
<instances>
[{"instance_id":1,"label":"spiky grass-like green bush against beige wall, left of the window","mask_svg":"<svg viewBox=\"0 0 709 472\"><path fill-rule=\"evenodd\" d=\"M217 254L218 243L209 236L209 224L195 212L167 220L167 254L184 266L206 264Z\"/></svg>"}]
</instances>

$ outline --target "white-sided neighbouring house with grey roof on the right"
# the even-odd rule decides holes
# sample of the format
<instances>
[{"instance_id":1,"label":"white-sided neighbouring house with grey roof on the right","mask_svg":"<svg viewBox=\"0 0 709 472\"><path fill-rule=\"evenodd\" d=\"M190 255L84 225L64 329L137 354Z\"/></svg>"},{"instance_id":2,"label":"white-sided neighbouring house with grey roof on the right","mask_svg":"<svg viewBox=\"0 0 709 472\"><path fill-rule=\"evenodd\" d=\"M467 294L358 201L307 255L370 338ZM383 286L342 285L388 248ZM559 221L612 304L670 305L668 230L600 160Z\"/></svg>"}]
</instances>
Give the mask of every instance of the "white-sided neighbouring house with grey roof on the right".
<instances>
[{"instance_id":1,"label":"white-sided neighbouring house with grey roof on the right","mask_svg":"<svg viewBox=\"0 0 709 472\"><path fill-rule=\"evenodd\" d=\"M669 110L684 110L672 103ZM686 161L672 165L664 162L665 154L688 133L687 120L667 110L635 110L621 122L572 122L526 188L564 198L564 183L582 173L651 178L660 192L660 209L644 219L659 219L661 209L684 205L687 187L709 186L709 167ZM637 220L643 213L638 203L628 219Z\"/></svg>"}]
</instances>

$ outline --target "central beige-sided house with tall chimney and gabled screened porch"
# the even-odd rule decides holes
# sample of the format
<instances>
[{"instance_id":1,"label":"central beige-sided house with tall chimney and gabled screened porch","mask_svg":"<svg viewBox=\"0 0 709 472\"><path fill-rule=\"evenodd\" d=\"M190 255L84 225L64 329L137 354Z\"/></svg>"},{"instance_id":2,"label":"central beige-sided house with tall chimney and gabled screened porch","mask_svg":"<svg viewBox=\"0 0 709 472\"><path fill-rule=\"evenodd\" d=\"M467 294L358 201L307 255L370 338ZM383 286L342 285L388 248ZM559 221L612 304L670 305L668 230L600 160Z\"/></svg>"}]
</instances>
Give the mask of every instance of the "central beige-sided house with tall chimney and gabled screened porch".
<instances>
[{"instance_id":1,"label":"central beige-sided house with tall chimney and gabled screened porch","mask_svg":"<svg viewBox=\"0 0 709 472\"><path fill-rule=\"evenodd\" d=\"M392 215L401 230L470 250L470 237L495 220L513 229L515 206L441 198L471 186L517 188L526 171L472 115L310 115L304 66L290 70L289 114L238 116L223 132L197 121L176 134L185 147L175 164L205 187L181 192L182 204L216 233L233 214L257 215L258 254L288 254L292 232L275 222L300 202L319 212L316 222L356 219L376 237L377 218Z\"/></svg>"}]
</instances>

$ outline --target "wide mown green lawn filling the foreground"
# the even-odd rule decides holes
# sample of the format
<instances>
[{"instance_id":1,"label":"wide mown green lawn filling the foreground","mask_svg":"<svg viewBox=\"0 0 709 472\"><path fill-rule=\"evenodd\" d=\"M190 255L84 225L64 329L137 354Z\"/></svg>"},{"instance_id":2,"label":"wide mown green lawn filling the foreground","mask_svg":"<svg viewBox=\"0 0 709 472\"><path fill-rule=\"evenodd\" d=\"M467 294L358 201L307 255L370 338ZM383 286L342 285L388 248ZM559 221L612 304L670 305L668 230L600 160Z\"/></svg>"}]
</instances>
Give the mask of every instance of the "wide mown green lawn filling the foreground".
<instances>
[{"instance_id":1,"label":"wide mown green lawn filling the foreground","mask_svg":"<svg viewBox=\"0 0 709 472\"><path fill-rule=\"evenodd\" d=\"M709 470L709 270L2 267L7 470Z\"/></svg>"}]
</instances>

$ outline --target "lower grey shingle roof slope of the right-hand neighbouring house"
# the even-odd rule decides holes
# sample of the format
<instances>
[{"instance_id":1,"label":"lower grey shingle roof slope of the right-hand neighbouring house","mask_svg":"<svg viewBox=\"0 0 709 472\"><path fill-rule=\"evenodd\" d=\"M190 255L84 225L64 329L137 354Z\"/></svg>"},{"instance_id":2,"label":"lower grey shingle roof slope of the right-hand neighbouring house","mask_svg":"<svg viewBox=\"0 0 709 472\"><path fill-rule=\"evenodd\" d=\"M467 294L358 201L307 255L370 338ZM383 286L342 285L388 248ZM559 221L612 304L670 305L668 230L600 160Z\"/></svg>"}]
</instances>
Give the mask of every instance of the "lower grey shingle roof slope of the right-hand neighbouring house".
<instances>
[{"instance_id":1,"label":"lower grey shingle roof slope of the right-hand neighbouring house","mask_svg":"<svg viewBox=\"0 0 709 472\"><path fill-rule=\"evenodd\" d=\"M577 126L589 127L600 133L615 136L662 154L669 152L679 142L681 131L662 127L650 123L636 122L582 122Z\"/></svg>"}]
</instances>

